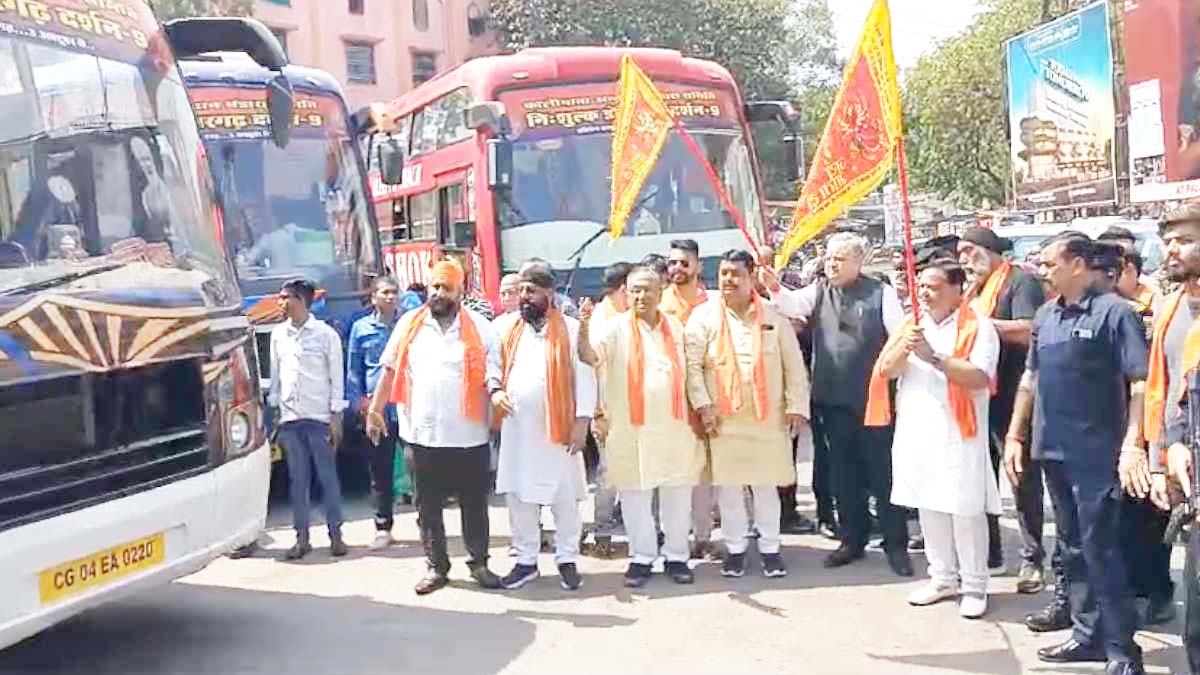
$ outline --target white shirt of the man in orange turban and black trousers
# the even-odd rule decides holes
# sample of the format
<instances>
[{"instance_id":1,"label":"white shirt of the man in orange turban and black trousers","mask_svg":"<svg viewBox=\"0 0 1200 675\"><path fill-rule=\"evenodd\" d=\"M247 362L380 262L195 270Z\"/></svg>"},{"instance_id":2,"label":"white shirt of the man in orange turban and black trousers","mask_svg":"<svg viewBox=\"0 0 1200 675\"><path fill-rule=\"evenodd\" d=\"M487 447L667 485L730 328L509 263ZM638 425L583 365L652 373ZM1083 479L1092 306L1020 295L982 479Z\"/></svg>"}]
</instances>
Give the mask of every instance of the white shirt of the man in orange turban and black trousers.
<instances>
[{"instance_id":1,"label":"white shirt of the man in orange turban and black trousers","mask_svg":"<svg viewBox=\"0 0 1200 675\"><path fill-rule=\"evenodd\" d=\"M419 310L406 313L391 331L384 350L383 363L396 366L396 351L401 336ZM408 406L396 407L400 437L426 448L474 448L488 443L487 414L482 420L468 419L462 413L462 317L475 322L475 329L486 352L487 389L500 382L500 339L486 318L466 307L458 309L454 323L445 331L432 313L413 336L408 346L408 382L412 387ZM485 396L484 410L490 405Z\"/></svg>"}]
</instances>

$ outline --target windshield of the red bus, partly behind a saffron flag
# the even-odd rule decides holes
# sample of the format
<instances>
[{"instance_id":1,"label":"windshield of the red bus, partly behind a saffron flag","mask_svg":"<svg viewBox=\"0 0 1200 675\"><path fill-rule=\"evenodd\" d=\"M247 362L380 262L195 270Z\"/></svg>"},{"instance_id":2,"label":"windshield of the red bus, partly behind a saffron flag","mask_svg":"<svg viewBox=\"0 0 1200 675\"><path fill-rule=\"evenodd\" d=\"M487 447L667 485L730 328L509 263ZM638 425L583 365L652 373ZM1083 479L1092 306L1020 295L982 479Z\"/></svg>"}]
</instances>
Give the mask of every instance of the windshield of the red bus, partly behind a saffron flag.
<instances>
[{"instance_id":1,"label":"windshield of the red bus, partly behind a saffron flag","mask_svg":"<svg viewBox=\"0 0 1200 675\"><path fill-rule=\"evenodd\" d=\"M762 232L754 163L733 96L672 83L661 88L746 226ZM587 238L589 228L607 223L614 89L614 83L602 83L500 95L515 137L511 193L497 201L506 267L517 262L509 259L510 253L532 255L517 244L518 228L554 223L564 235L578 231ZM580 227L583 223L589 225ZM678 131L668 136L622 239L632 245L637 238L655 235L698 237L714 245L718 240L734 244L739 237L707 169ZM574 249L581 241L569 244Z\"/></svg>"}]
</instances>

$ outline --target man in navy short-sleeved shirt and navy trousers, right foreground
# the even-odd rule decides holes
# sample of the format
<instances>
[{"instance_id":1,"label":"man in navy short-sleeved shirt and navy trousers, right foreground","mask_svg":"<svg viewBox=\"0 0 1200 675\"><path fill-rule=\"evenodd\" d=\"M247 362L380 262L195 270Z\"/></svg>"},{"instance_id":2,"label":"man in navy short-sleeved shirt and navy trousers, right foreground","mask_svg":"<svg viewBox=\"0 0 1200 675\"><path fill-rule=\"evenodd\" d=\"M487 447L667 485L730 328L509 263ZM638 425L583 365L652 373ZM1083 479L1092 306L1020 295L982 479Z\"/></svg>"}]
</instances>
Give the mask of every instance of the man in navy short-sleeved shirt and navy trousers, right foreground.
<instances>
[{"instance_id":1,"label":"man in navy short-sleeved shirt and navy trousers, right foreground","mask_svg":"<svg viewBox=\"0 0 1200 675\"><path fill-rule=\"evenodd\" d=\"M1030 446L1031 456L1042 460L1055 506L1074 631L1062 644L1038 650L1038 658L1108 662L1110 675L1140 675L1145 670L1133 639L1136 615L1118 524L1127 465L1145 456L1141 410L1150 354L1128 303L1097 289L1096 252L1081 234L1058 237L1042 251L1043 276L1058 298L1033 319L1004 468L1018 484Z\"/></svg>"}]
</instances>

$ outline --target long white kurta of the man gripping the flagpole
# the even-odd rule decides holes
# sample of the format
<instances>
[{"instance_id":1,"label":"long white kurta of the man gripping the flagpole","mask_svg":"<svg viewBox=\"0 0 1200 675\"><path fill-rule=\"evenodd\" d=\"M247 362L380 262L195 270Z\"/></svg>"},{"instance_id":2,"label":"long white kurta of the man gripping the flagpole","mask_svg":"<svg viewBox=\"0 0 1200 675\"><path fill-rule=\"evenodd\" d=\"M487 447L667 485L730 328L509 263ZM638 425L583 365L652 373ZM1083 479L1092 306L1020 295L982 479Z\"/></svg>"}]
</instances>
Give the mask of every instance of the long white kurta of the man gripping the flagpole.
<instances>
[{"instance_id":1,"label":"long white kurta of the man gripping the flagpole","mask_svg":"<svg viewBox=\"0 0 1200 675\"><path fill-rule=\"evenodd\" d=\"M958 312L941 323L928 312L920 317L925 340L938 354L954 353ZM967 359L996 376L1000 335L986 318ZM896 430L892 443L892 503L955 515L1000 513L1000 486L991 468L988 447L988 402L991 393L971 392L976 435L964 438L950 412L946 374L932 364L908 356L896 383Z\"/></svg>"}]
</instances>

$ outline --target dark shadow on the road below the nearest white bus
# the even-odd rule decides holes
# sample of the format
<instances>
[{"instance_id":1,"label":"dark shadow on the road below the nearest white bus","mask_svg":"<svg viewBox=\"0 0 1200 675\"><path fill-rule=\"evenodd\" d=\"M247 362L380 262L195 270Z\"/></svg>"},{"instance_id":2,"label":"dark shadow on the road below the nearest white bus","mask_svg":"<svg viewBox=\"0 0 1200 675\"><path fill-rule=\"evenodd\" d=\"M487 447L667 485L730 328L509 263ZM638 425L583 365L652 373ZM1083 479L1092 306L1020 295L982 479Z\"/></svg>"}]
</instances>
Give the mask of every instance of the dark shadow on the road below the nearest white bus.
<instances>
[{"instance_id":1,"label":"dark shadow on the road below the nearest white bus","mask_svg":"<svg viewBox=\"0 0 1200 675\"><path fill-rule=\"evenodd\" d=\"M610 619L617 620L586 621ZM461 635L462 649L434 647L448 635ZM490 674L533 639L534 625L521 613L173 584L0 652L0 674Z\"/></svg>"}]
</instances>

